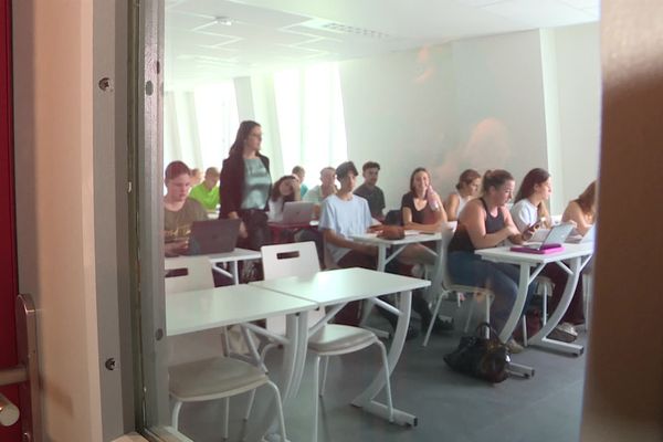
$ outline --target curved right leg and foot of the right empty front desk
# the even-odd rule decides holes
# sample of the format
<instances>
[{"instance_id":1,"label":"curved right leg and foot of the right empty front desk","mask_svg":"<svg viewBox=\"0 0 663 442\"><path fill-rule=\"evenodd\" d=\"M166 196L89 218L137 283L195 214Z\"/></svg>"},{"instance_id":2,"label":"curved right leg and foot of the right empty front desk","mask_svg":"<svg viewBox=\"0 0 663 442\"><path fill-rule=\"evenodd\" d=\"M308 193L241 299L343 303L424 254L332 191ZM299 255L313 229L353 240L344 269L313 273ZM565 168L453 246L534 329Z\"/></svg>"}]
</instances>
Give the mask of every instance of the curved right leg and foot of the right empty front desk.
<instances>
[{"instance_id":1,"label":"curved right leg and foot of the right empty front desk","mask_svg":"<svg viewBox=\"0 0 663 442\"><path fill-rule=\"evenodd\" d=\"M406 335L408 334L408 325L410 324L410 307L412 305L412 292L403 292L400 295L398 308L400 311L398 315L398 324L396 326L396 333L389 347L389 354L387 356L389 362L389 373L393 372L398 359L400 358L406 343ZM352 406L360 407L369 413L379 415L380 418L389 420L389 412L387 406L375 400L378 393L385 387L385 368L376 375L373 381L368 386L361 394L359 394L352 401ZM400 425L417 425L417 417L407 413L401 410L393 409L393 422Z\"/></svg>"}]
</instances>

